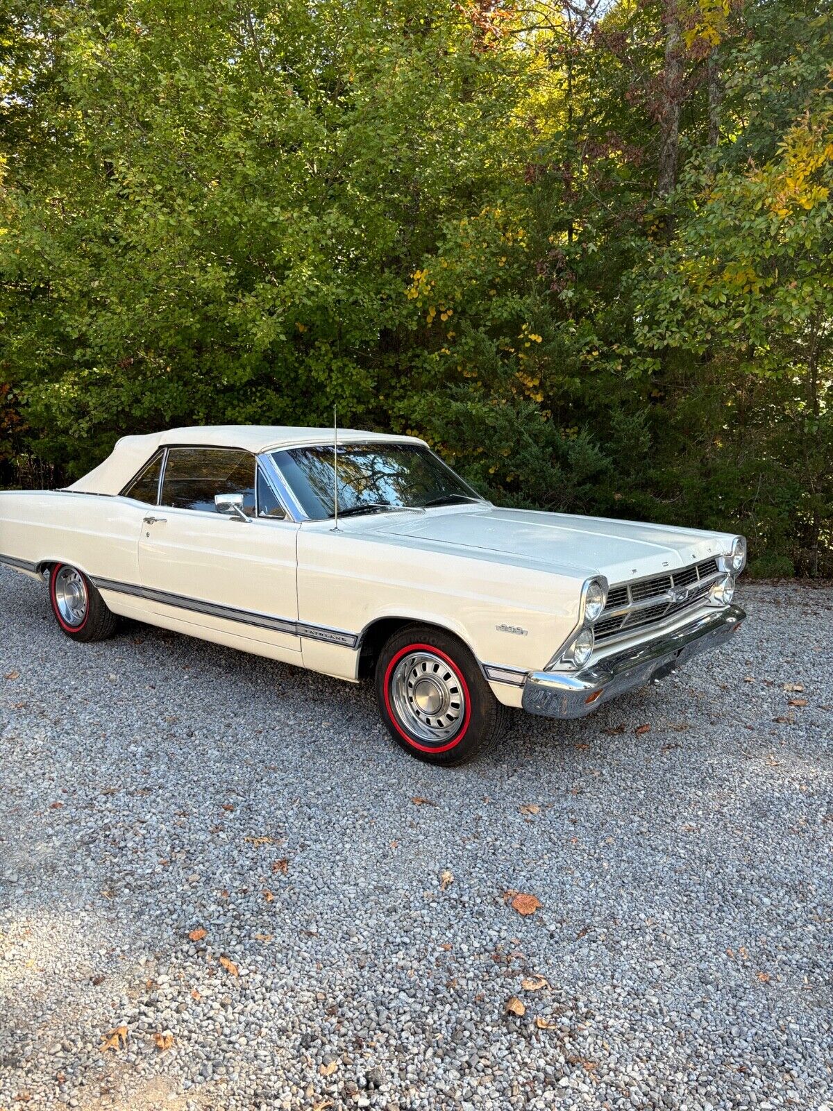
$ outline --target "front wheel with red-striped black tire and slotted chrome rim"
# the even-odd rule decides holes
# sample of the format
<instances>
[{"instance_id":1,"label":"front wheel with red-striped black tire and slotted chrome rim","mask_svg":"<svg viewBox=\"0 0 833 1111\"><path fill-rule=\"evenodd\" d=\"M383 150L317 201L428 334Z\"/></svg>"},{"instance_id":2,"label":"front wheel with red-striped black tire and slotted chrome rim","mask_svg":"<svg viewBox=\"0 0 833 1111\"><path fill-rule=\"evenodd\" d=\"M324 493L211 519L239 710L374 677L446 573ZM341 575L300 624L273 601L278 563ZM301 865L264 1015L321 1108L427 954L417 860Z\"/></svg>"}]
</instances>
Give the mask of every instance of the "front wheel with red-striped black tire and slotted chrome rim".
<instances>
[{"instance_id":1,"label":"front wheel with red-striped black tire and slotted chrome rim","mask_svg":"<svg viewBox=\"0 0 833 1111\"><path fill-rule=\"evenodd\" d=\"M394 633L377 661L382 720L405 752L426 763L464 763L500 737L504 708L469 649L430 625Z\"/></svg>"}]
</instances>

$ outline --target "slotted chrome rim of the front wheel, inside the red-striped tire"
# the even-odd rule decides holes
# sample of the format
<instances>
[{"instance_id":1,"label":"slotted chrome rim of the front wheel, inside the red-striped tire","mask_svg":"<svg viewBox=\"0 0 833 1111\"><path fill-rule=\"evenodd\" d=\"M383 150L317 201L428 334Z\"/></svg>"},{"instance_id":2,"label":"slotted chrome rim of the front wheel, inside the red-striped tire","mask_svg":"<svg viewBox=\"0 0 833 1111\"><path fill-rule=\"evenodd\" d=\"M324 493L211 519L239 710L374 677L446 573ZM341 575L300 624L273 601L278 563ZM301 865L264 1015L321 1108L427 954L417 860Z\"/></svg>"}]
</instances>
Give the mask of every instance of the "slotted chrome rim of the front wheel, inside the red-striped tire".
<instances>
[{"instance_id":1,"label":"slotted chrome rim of the front wheel, inside the red-striped tire","mask_svg":"<svg viewBox=\"0 0 833 1111\"><path fill-rule=\"evenodd\" d=\"M391 677L393 709L420 740L451 740L465 719L463 685L449 664L433 652L403 655Z\"/></svg>"}]
</instances>

